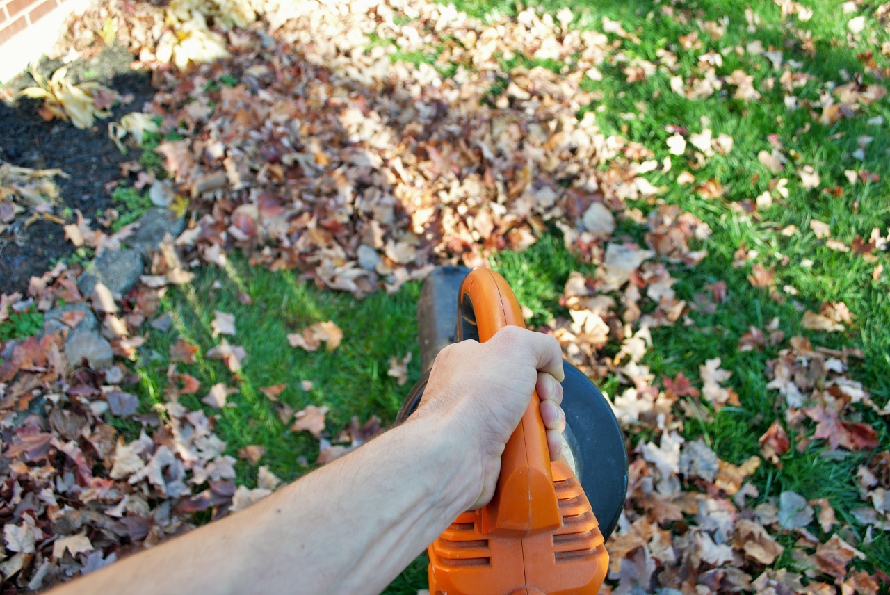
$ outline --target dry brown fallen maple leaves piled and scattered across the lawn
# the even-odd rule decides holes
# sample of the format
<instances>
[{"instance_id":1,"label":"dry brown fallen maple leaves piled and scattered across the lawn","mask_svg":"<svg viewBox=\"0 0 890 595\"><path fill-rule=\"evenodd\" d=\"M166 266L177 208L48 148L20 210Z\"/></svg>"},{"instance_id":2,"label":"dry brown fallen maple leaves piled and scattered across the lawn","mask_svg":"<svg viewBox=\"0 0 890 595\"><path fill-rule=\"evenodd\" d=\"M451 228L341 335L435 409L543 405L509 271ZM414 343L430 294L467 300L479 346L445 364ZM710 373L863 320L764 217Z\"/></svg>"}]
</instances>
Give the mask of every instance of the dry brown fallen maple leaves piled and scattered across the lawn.
<instances>
[{"instance_id":1,"label":"dry brown fallen maple leaves piled and scattered across the lawn","mask_svg":"<svg viewBox=\"0 0 890 595\"><path fill-rule=\"evenodd\" d=\"M798 7L797 18L805 16L803 7L790 4ZM188 282L188 269L202 263L225 264L234 249L256 265L298 269L319 285L361 296L381 287L396 291L439 263L484 266L493 251L520 250L554 226L579 258L596 265L596 274L570 277L562 297L570 318L544 330L592 377L617 374L624 388L613 398L616 414L623 423L644 424L652 436L631 453L627 507L608 546L614 592L669 586L688 593L815 593L834 592L835 585L876 592L886 575L851 569L862 553L827 501L785 492L774 502L746 506L757 495L746 479L760 465L781 466L779 456L789 448L804 448L813 438L847 450L878 446L875 430L857 411L887 412L846 374L849 359L861 354L814 347L802 337L786 341L775 326L752 328L740 350L787 345L770 370L777 411L785 413L761 438L762 456L739 466L680 433L687 415L740 405L727 385L732 372L720 359L701 363L701 389L683 374L657 379L643 364L651 328L682 324L691 309L713 309L726 285L708 287L695 303L677 299L668 265L700 262L710 230L692 214L659 203L660 189L645 174L669 171L671 158L657 160L639 143L606 137L595 111L577 117L595 100L582 82L602 78L603 63L621 65L634 82L656 68L670 70L676 55L659 51L659 64L630 60L622 48L636 36L621 23L603 19L600 32L574 28L574 20L569 9L555 19L526 10L484 24L423 0L174 0L166 9L118 0L87 12L73 23L66 47L95 52L101 42L95 32L111 22L117 38L152 69L158 89L144 117L113 126L115 139L132 133L138 142L152 117L160 118L162 133L180 139L158 147L170 181L156 180L137 163L126 175L157 187L162 204L187 202L190 223L158 253L143 285L122 300L109 301L101 287L81 296L72 273L56 269L36 279L28 300L4 296L0 322L29 305L46 311L61 300L89 299L117 356L133 358L166 285ZM719 36L721 27L706 28ZM690 50L698 40L681 42ZM424 62L393 61L397 50L437 54L450 76ZM565 66L558 74L520 66L505 73L502 60L515 52ZM702 97L724 89L740 101L759 96L743 72L716 75L719 54L699 60L700 77L673 77L675 92ZM796 69L789 62L787 76L772 84L793 96L804 76ZM848 106L879 99L880 91L851 83L805 109L830 122L849 117ZM684 156L684 164L732 151L732 137L705 123L696 132L668 132L669 153ZM784 158L776 146L761 161ZM807 167L801 166L802 179L818 185L818 174ZM694 183L706 197L723 192L719 182L697 182L690 172L678 181ZM781 197L782 188L776 181L748 206ZM627 205L641 197L655 205L648 216ZM645 229L644 245L616 237L621 222ZM86 243L106 239L86 225L70 227ZM879 231L873 240L886 243ZM740 250L744 262L748 253ZM755 268L752 284L772 287L771 272L761 269ZM780 290L773 291L781 299ZM809 312L805 324L843 328L850 313L842 306ZM28 589L185 530L190 524L183 519L195 511L219 516L243 507L278 483L263 470L259 488L236 489L234 459L213 423L177 402L179 394L197 390L188 374L172 367L163 401L152 414L137 415L136 398L121 389L133 381L123 364L96 371L66 362L62 337L77 325L74 315L66 316L42 338L0 345L6 544L0 574ZM216 355L237 373L249 354L222 336L230 334L224 318L218 324ZM333 349L338 339L331 330L308 328L289 339L303 349L318 349L322 341ZM610 342L620 349L605 357L602 348ZM176 350L174 360L193 356L188 345ZM401 378L407 363L393 360L391 374ZM273 398L275 387L269 389ZM205 402L223 406L226 396L224 385L214 387ZM295 430L320 436L324 413L299 412ZM141 438L126 443L109 418L142 423ZM367 428L353 430L353 443L367 437ZM859 470L856 515L881 531L890 513L890 456L872 460ZM821 543L808 528L813 523L837 533ZM805 575L773 569L784 551L775 538L780 534L793 535L791 558L811 568Z\"/></svg>"}]
</instances>

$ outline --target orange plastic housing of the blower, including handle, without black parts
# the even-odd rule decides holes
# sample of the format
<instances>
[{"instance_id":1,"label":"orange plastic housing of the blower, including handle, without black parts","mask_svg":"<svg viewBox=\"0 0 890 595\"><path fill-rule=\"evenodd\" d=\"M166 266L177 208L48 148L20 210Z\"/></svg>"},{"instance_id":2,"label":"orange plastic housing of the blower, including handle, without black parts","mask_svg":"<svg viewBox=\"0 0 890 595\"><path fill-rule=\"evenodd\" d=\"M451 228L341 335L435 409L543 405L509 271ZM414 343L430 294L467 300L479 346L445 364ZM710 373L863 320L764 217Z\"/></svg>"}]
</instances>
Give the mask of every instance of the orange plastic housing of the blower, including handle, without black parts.
<instances>
[{"instance_id":1,"label":"orange plastic housing of the blower, including handle, without black parts","mask_svg":"<svg viewBox=\"0 0 890 595\"><path fill-rule=\"evenodd\" d=\"M464 321L481 342L525 327L504 277L473 270L460 289ZM501 457L491 502L459 515L429 547L431 595L593 595L609 567L594 512L564 459L550 462L532 394Z\"/></svg>"}]
</instances>

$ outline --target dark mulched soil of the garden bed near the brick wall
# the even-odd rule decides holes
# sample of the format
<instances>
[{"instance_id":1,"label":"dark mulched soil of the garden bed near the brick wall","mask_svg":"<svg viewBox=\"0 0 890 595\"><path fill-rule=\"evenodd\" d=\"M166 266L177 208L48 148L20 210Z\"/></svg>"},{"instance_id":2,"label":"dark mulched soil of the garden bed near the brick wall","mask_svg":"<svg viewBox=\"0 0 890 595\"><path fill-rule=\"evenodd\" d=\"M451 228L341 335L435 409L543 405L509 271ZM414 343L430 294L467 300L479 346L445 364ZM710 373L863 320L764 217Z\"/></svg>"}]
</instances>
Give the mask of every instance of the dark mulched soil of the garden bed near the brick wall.
<instances>
[{"instance_id":1,"label":"dark mulched soil of the garden bed near the brick wall","mask_svg":"<svg viewBox=\"0 0 890 595\"><path fill-rule=\"evenodd\" d=\"M55 213L68 207L80 209L92 218L97 210L109 207L111 198L106 185L121 179L119 164L138 156L133 150L123 155L109 139L108 123L132 111L142 111L154 91L150 75L130 68L133 56L123 48L103 50L92 60L81 60L69 68L76 82L95 80L122 96L132 94L133 101L117 105L110 118L98 120L90 130L78 130L69 122L44 122L37 114L39 101L21 100L14 106L0 102L0 159L13 165L33 168L58 167L69 178L56 178L61 204ZM61 63L44 60L38 71L49 78ZM7 85L12 92L33 83L25 74ZM19 219L22 219L21 217ZM70 222L70 221L69 221ZM65 240L61 225L37 221L29 227L17 221L0 235L0 293L24 291L28 279L39 277L53 261L69 256L74 245Z\"/></svg>"}]
</instances>

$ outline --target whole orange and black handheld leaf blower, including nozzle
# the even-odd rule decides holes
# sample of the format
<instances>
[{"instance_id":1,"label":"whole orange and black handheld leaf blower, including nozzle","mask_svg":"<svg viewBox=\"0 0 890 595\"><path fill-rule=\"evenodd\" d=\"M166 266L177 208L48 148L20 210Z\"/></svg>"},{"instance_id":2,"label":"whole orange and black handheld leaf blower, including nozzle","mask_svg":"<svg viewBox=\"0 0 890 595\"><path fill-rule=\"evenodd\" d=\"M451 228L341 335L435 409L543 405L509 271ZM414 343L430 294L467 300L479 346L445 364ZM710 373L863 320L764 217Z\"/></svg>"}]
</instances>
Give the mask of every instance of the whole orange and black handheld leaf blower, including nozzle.
<instances>
[{"instance_id":1,"label":"whole orange and black handheld leaf blower, including nozzle","mask_svg":"<svg viewBox=\"0 0 890 595\"><path fill-rule=\"evenodd\" d=\"M459 291L453 292L457 280ZM457 309L453 309L455 293ZM446 313L449 302L450 311L457 314L450 337L442 332L455 318ZM489 269L437 269L421 294L418 318L426 375L409 394L401 419L417 407L435 353L445 344L471 338L484 342L504 326L525 326L510 286ZM530 395L501 457L491 502L459 515L428 549L431 595L599 591L609 566L605 537L617 523L627 490L627 454L618 422L602 394L577 368L568 363L564 367L567 456L550 462L540 401ZM594 439L585 439L588 434ZM595 503L607 519L605 535L576 471L589 473L589 484L600 494Z\"/></svg>"}]
</instances>

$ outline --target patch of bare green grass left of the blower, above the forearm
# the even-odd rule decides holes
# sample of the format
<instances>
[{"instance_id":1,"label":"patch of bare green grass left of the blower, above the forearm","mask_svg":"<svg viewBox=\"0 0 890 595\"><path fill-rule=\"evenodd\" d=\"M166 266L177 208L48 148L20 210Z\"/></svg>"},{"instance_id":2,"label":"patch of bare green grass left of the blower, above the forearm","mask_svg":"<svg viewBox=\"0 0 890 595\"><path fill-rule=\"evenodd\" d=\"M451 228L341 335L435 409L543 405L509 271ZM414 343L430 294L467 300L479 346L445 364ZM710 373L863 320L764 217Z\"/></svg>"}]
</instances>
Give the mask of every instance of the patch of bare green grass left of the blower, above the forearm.
<instances>
[{"instance_id":1,"label":"patch of bare green grass left of the blower, above the forearm","mask_svg":"<svg viewBox=\"0 0 890 595\"><path fill-rule=\"evenodd\" d=\"M240 302L242 292L253 303ZM357 301L345 293L317 289L295 272L271 273L233 257L227 269L205 269L191 285L166 293L162 312L171 316L173 325L166 332L146 326L150 335L136 366L141 376L138 392L142 406L147 410L164 401L170 346L180 338L197 344L200 350L195 363L178 363L177 372L194 375L201 386L196 394L182 396L181 402L214 416L215 431L227 442L232 456L237 457L239 449L247 445L266 448L256 465L238 462L239 484L255 486L259 465L269 466L286 481L298 478L315 468L319 441L308 432L291 431L293 421L282 422L277 406L295 411L307 405L328 406L326 436L332 441L353 416L365 422L377 415L384 427L391 425L402 399L420 375L418 293L419 285L409 283L393 295L378 292ZM235 315L237 334L227 340L247 351L237 378L219 360L204 357L219 342L212 336L214 310ZM321 347L306 352L287 342L287 334L327 320L344 332L343 342L335 350L328 352ZM409 352L413 353L409 383L399 386L387 375L389 358L402 358ZM313 382L312 390L300 388L306 380ZM239 389L228 399L233 406L219 410L200 401L216 382ZM260 391L282 382L287 383L287 389L279 395L277 404ZM130 439L139 433L135 424L118 429L128 432ZM414 595L426 580L425 560L424 553L386 592Z\"/></svg>"}]
</instances>

